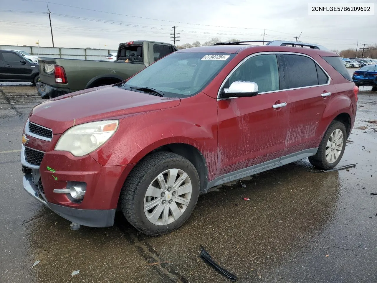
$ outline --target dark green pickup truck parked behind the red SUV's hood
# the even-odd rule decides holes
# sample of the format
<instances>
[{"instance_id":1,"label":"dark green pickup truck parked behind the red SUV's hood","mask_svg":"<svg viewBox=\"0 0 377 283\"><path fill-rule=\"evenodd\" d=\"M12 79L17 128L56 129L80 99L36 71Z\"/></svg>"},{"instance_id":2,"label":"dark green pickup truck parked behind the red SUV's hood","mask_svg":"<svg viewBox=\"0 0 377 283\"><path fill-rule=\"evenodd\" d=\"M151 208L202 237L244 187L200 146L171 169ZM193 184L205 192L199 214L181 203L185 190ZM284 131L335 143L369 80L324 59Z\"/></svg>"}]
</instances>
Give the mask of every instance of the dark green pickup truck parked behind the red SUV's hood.
<instances>
[{"instance_id":1,"label":"dark green pickup truck parked behind the red SUV's hood","mask_svg":"<svg viewBox=\"0 0 377 283\"><path fill-rule=\"evenodd\" d=\"M115 62L39 57L38 94L43 99L123 82L178 49L147 40L120 43Z\"/></svg>"}]
</instances>

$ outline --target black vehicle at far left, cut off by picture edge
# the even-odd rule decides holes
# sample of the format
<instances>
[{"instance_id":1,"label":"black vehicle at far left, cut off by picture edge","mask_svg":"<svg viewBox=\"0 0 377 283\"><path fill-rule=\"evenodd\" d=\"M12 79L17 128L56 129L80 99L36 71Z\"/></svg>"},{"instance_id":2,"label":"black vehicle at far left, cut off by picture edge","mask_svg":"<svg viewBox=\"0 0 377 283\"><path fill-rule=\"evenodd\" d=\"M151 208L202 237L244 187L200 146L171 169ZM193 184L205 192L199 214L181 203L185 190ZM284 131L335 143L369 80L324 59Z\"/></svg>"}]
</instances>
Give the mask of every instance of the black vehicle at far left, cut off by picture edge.
<instances>
[{"instance_id":1,"label":"black vehicle at far left, cut off by picture edge","mask_svg":"<svg viewBox=\"0 0 377 283\"><path fill-rule=\"evenodd\" d=\"M39 81L38 63L33 63L17 51L0 50L0 82Z\"/></svg>"}]
</instances>

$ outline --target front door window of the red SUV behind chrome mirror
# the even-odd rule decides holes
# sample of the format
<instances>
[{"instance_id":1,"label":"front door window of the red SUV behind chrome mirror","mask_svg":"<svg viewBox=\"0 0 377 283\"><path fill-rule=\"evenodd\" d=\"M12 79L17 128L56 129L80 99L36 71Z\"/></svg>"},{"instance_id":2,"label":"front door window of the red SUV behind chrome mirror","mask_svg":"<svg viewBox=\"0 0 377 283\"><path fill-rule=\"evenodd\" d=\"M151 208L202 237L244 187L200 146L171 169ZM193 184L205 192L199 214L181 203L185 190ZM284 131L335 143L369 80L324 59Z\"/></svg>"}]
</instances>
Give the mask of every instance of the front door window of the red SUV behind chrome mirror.
<instances>
[{"instance_id":1,"label":"front door window of the red SUV behind chrome mirror","mask_svg":"<svg viewBox=\"0 0 377 283\"><path fill-rule=\"evenodd\" d=\"M225 88L236 81L257 83L259 92L279 89L279 68L275 54L256 55L250 57L231 74Z\"/></svg>"}]
</instances>

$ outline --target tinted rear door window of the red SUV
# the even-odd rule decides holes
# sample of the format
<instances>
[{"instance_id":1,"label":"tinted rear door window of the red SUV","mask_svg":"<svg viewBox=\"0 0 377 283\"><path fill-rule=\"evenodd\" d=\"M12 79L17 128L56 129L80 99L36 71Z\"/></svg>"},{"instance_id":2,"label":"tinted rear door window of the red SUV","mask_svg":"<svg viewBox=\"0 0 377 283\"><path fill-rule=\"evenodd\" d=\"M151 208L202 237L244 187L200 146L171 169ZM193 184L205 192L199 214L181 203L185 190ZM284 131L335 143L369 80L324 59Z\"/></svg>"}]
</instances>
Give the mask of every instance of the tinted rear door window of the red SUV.
<instances>
[{"instance_id":1,"label":"tinted rear door window of the red SUV","mask_svg":"<svg viewBox=\"0 0 377 283\"><path fill-rule=\"evenodd\" d=\"M302 88L318 85L316 63L302 55L284 54L288 74L285 74L285 88Z\"/></svg>"}]
</instances>

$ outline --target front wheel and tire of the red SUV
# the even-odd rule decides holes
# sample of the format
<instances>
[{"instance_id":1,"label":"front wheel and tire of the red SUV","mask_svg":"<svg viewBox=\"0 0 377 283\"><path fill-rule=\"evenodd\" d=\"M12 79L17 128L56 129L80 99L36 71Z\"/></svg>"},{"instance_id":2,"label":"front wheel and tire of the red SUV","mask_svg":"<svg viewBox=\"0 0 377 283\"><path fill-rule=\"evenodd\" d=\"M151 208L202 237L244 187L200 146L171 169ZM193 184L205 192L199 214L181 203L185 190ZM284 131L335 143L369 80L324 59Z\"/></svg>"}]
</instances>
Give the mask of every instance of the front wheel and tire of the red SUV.
<instances>
[{"instance_id":1,"label":"front wheel and tire of the red SUV","mask_svg":"<svg viewBox=\"0 0 377 283\"><path fill-rule=\"evenodd\" d=\"M173 177L169 184L169 176L177 177ZM163 179L159 179L161 177ZM182 178L183 185L179 185ZM166 183L174 183L173 188L164 188ZM186 192L190 183L191 193ZM155 189L149 189L152 185ZM172 152L155 152L136 164L124 182L121 209L130 224L140 232L163 235L178 229L189 218L198 201L199 188L198 172L189 160ZM149 204L153 202L154 206Z\"/></svg>"}]
</instances>

